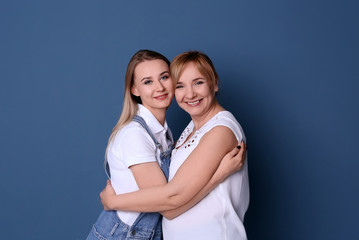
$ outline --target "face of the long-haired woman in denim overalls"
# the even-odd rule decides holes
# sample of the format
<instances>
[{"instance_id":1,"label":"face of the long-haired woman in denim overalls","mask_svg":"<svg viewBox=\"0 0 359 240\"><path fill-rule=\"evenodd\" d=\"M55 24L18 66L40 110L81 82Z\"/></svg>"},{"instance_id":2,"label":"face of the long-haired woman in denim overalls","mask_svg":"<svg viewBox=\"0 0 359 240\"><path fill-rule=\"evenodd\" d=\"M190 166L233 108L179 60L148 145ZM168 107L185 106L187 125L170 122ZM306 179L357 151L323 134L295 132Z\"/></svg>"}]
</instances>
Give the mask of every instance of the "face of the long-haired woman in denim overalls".
<instances>
[{"instance_id":1,"label":"face of the long-haired woman in denim overalls","mask_svg":"<svg viewBox=\"0 0 359 240\"><path fill-rule=\"evenodd\" d=\"M163 60L147 60L136 66L131 93L154 115L166 111L173 98L169 67Z\"/></svg>"}]
</instances>

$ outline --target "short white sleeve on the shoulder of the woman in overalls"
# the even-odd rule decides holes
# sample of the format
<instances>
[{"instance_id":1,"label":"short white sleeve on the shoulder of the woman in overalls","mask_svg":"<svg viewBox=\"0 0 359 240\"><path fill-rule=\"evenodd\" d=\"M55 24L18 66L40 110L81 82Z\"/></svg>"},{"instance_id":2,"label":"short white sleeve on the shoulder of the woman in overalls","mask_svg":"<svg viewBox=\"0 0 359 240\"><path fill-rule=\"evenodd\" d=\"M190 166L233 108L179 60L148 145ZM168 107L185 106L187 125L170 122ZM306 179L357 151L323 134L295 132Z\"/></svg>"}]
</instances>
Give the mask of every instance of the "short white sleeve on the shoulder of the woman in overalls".
<instances>
[{"instance_id":1,"label":"short white sleeve on the shoulder of the woman in overalls","mask_svg":"<svg viewBox=\"0 0 359 240\"><path fill-rule=\"evenodd\" d=\"M118 137L115 144L119 150L119 158L127 167L157 161L155 143L141 126L124 128Z\"/></svg>"}]
</instances>

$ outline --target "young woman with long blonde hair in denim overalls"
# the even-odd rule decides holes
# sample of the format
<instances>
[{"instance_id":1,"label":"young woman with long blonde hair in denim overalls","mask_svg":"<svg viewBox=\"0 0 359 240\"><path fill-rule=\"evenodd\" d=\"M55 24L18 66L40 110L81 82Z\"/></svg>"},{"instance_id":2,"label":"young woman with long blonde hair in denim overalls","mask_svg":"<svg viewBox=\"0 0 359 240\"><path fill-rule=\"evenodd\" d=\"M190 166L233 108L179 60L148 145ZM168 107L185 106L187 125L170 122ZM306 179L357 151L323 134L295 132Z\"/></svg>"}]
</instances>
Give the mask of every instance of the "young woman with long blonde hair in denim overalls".
<instances>
[{"instance_id":1,"label":"young woman with long blonde hair in denim overalls","mask_svg":"<svg viewBox=\"0 0 359 240\"><path fill-rule=\"evenodd\" d=\"M138 51L127 67L122 114L106 150L106 169L117 194L167 183L173 138L165 113L173 94L169 61L157 52ZM238 150L226 155L202 197L240 168L242 147L235 158ZM201 196L164 214L181 214ZM103 211L87 239L161 239L161 220L159 213Z\"/></svg>"}]
</instances>

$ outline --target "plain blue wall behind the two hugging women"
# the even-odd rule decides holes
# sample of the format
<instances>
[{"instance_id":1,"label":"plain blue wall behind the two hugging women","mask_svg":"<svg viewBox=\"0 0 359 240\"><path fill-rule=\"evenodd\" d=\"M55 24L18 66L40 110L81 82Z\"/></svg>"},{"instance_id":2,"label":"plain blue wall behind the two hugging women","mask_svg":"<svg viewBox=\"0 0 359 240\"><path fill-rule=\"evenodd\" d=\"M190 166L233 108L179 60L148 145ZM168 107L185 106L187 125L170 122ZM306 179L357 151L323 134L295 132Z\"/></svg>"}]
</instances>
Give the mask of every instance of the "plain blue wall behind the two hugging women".
<instances>
[{"instance_id":1,"label":"plain blue wall behind the two hugging women","mask_svg":"<svg viewBox=\"0 0 359 240\"><path fill-rule=\"evenodd\" d=\"M249 239L359 239L357 1L0 3L2 239L84 239L138 49L197 49L248 139ZM174 135L188 122L176 103Z\"/></svg>"}]
</instances>

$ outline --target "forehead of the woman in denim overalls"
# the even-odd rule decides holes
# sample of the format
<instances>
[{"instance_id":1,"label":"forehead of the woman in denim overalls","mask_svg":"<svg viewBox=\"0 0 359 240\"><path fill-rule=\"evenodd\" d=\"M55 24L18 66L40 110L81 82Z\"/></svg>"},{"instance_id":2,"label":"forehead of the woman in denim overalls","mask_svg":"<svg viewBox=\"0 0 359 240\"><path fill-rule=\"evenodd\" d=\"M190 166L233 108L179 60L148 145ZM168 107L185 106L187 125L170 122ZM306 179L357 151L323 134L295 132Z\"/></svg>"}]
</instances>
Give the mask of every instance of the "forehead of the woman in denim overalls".
<instances>
[{"instance_id":1,"label":"forehead of the woman in denim overalls","mask_svg":"<svg viewBox=\"0 0 359 240\"><path fill-rule=\"evenodd\" d=\"M167 63L163 60L145 60L144 62L139 63L135 69L136 77L151 77L157 76L158 74L163 73L164 71L169 71Z\"/></svg>"}]
</instances>

